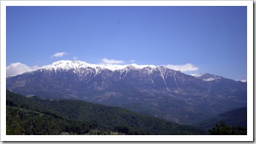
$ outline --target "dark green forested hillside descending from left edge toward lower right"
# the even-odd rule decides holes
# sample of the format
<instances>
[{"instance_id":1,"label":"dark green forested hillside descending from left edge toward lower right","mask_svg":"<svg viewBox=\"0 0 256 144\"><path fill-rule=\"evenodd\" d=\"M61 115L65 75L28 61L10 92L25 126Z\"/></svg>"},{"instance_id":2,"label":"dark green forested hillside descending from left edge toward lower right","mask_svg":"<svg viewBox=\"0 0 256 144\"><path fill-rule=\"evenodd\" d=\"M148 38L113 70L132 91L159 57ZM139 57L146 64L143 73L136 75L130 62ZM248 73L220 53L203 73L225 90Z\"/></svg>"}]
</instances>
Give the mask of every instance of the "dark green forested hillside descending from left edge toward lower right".
<instances>
[{"instance_id":1,"label":"dark green forested hillside descending from left edge toward lower right","mask_svg":"<svg viewBox=\"0 0 256 144\"><path fill-rule=\"evenodd\" d=\"M145 117L126 109L82 100L24 97L7 91L7 135L207 134L194 126Z\"/></svg>"}]
</instances>

